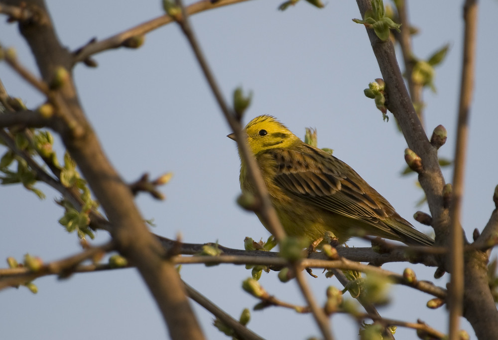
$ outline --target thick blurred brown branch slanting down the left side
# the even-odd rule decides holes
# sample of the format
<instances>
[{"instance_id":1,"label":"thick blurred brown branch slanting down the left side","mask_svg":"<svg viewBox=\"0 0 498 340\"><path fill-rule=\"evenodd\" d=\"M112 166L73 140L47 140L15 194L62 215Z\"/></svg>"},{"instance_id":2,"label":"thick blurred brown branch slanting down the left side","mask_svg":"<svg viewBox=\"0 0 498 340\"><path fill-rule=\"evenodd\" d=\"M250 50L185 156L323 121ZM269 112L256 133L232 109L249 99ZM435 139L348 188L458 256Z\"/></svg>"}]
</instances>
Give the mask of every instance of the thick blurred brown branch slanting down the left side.
<instances>
[{"instance_id":1,"label":"thick blurred brown branch slanting down the left side","mask_svg":"<svg viewBox=\"0 0 498 340\"><path fill-rule=\"evenodd\" d=\"M5 4L20 2L2 1ZM133 195L106 157L83 112L71 75L74 57L59 42L44 1L23 0L22 3L40 13L40 20L19 21L19 31L34 55L43 82L54 85L49 97L55 108L54 116L60 123L57 132L109 218L109 229L117 248L146 282L168 325L170 337L204 339L174 265L145 226ZM44 91L41 86L38 88Z\"/></svg>"}]
</instances>

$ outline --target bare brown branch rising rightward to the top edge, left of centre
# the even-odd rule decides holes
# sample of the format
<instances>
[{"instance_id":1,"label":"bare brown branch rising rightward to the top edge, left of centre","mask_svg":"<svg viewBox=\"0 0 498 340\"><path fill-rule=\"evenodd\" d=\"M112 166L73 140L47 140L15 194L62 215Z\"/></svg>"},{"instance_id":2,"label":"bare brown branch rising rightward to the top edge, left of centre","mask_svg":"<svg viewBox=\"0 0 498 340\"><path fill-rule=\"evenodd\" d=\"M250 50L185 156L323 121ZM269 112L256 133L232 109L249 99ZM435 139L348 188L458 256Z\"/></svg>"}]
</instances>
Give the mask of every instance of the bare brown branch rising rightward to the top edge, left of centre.
<instances>
[{"instance_id":1,"label":"bare brown branch rising rightward to the top edge, left of centre","mask_svg":"<svg viewBox=\"0 0 498 340\"><path fill-rule=\"evenodd\" d=\"M239 2L244 2L248 0L220 0L213 2L211 0L201 0L198 2L195 2L189 6L186 7L186 11L189 15L191 14L196 14L200 13L209 9L217 8L217 7L222 7L230 4L235 4ZM161 15L157 18L154 18L152 20L146 21L144 23L141 23L137 26L131 27L123 32L120 32L118 34L115 34L107 39L104 40L94 40L92 39L88 44L85 46L80 47L76 51L73 52L74 55L74 60L73 63L78 63L81 61L84 61L88 58L90 58L92 55L104 52L106 50L110 50L113 48L119 48L122 47L124 42L129 39L133 38L135 36L141 36L144 35L154 29L157 29L161 26L164 26L168 23L174 22L175 20L171 18L169 15Z\"/></svg>"}]
</instances>

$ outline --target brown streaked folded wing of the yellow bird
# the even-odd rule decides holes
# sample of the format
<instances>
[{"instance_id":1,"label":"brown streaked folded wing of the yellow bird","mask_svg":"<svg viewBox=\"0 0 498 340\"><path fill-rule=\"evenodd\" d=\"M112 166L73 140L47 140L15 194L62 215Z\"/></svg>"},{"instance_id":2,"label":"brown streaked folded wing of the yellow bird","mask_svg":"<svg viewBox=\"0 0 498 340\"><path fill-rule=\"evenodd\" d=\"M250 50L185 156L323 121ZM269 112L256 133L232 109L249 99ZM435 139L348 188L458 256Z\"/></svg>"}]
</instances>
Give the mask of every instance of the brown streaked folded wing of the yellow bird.
<instances>
[{"instance_id":1,"label":"brown streaked folded wing of the yellow bird","mask_svg":"<svg viewBox=\"0 0 498 340\"><path fill-rule=\"evenodd\" d=\"M273 156L277 162L274 180L282 189L315 206L392 233L378 222L388 217L386 210L394 213L394 209L346 163L313 147L306 152L279 149ZM380 197L383 206L372 195L376 200Z\"/></svg>"}]
</instances>

